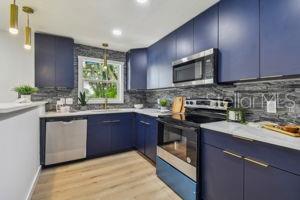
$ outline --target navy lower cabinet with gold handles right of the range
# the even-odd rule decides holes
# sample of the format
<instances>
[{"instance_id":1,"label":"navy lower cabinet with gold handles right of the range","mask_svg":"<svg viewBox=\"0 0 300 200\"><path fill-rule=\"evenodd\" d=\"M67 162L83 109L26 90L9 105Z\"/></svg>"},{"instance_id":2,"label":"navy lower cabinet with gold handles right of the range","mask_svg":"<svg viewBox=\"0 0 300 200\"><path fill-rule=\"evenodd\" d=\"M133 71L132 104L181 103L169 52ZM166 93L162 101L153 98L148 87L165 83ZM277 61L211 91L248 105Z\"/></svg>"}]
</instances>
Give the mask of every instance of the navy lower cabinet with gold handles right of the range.
<instances>
[{"instance_id":1,"label":"navy lower cabinet with gold handles right of the range","mask_svg":"<svg viewBox=\"0 0 300 200\"><path fill-rule=\"evenodd\" d=\"M202 130L203 200L299 200L300 152Z\"/></svg>"}]
</instances>

